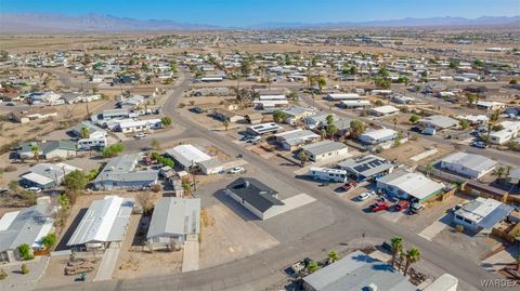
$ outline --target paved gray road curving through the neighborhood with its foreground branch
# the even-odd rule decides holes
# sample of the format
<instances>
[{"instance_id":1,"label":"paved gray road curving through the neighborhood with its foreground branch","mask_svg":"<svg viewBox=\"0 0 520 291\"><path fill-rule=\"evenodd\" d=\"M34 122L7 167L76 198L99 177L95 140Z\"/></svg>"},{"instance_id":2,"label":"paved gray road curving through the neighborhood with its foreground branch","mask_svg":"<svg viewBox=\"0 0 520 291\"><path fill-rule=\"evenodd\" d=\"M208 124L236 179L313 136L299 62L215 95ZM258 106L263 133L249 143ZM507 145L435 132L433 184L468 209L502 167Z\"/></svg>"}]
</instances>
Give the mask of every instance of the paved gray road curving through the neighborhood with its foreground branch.
<instances>
[{"instance_id":1,"label":"paved gray road curving through the neighborhood with its foreground branch","mask_svg":"<svg viewBox=\"0 0 520 291\"><path fill-rule=\"evenodd\" d=\"M176 111L174 105L179 102L183 90L188 85L188 79L179 84L179 89L165 104L165 114L186 131L185 136L204 137L216 143L224 151L242 153L244 158L259 170L271 173L282 182L292 185L301 193L311 195L316 200L332 208L335 222L322 229L311 233L300 239L283 242L272 249L233 261L211 268L196 272L172 274L161 277L135 278L129 280L112 280L93 282L77 287L53 288L57 290L262 290L284 279L281 269L288 264L301 260L303 256L324 257L324 250L337 248L338 244L366 237L390 238L400 235L406 243L421 249L425 260L453 274L466 286L464 290L481 290L480 280L495 279L495 275L486 273L477 264L447 249L445 246L428 241L400 225L380 217L364 213L359 208L349 204L340 197L320 188L315 183L295 180L295 168L275 164L270 160L244 150L229 137L210 132L202 124L193 122L182 114ZM50 289L49 289L50 290ZM492 289L486 289L492 290ZM504 289L502 289L504 290Z\"/></svg>"}]
</instances>

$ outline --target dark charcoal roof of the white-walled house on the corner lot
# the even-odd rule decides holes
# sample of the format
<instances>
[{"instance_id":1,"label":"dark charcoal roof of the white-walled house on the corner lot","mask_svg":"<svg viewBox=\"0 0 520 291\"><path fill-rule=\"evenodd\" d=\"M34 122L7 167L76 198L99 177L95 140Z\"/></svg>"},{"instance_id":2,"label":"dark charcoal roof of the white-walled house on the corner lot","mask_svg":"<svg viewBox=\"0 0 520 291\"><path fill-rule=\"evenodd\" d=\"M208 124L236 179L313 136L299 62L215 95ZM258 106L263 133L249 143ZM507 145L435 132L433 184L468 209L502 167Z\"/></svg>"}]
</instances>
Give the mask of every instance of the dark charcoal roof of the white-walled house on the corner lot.
<instances>
[{"instance_id":1,"label":"dark charcoal roof of the white-walled house on the corner lot","mask_svg":"<svg viewBox=\"0 0 520 291\"><path fill-rule=\"evenodd\" d=\"M261 212L265 212L273 206L284 204L275 197L277 191L253 177L239 177L226 188Z\"/></svg>"}]
</instances>

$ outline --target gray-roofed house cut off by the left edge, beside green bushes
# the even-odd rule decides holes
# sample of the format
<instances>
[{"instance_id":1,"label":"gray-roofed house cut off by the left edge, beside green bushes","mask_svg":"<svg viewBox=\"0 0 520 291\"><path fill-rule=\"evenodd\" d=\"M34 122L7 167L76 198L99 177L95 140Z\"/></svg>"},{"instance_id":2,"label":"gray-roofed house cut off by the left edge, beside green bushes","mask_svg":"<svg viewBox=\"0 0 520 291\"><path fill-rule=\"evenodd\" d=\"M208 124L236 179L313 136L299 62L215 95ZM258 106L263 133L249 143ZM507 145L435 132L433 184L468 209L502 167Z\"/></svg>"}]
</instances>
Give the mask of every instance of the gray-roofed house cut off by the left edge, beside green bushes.
<instances>
[{"instance_id":1,"label":"gray-roofed house cut off by the left edge, beside green bushes","mask_svg":"<svg viewBox=\"0 0 520 291\"><path fill-rule=\"evenodd\" d=\"M49 197L37 199L36 206L8 212L0 220L0 263L21 260L17 248L27 243L42 249L41 238L53 230Z\"/></svg>"}]
</instances>

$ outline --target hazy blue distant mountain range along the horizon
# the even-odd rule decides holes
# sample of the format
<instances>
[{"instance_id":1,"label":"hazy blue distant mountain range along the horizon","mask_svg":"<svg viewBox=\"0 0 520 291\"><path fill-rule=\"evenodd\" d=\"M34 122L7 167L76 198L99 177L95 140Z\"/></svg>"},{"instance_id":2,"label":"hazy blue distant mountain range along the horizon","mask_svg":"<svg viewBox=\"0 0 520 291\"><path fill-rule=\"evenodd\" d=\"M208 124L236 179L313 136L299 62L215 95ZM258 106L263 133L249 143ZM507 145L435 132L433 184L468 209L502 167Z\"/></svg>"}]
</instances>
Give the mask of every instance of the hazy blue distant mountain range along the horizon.
<instances>
[{"instance_id":1,"label":"hazy blue distant mountain range along the horizon","mask_svg":"<svg viewBox=\"0 0 520 291\"><path fill-rule=\"evenodd\" d=\"M223 27L187 24L174 21L140 21L103 14L66 16L62 14L0 14L0 32L107 32L160 30L218 30L218 29L278 29L278 28L349 28L349 27L428 27L428 26L519 26L520 16L404 18L394 21L339 22L339 23L264 23L245 27Z\"/></svg>"}]
</instances>

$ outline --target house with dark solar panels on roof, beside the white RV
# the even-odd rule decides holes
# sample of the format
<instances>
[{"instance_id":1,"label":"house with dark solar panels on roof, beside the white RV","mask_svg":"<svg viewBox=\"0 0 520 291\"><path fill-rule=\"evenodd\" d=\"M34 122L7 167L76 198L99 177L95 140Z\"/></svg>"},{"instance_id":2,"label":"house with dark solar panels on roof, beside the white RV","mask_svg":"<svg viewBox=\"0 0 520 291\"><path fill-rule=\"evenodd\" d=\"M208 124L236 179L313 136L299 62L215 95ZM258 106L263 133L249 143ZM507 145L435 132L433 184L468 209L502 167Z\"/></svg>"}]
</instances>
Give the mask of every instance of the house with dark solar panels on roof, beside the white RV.
<instances>
[{"instance_id":1,"label":"house with dark solar panels on roof, beside the white RV","mask_svg":"<svg viewBox=\"0 0 520 291\"><path fill-rule=\"evenodd\" d=\"M373 155L348 159L339 162L338 166L342 170L346 170L350 177L356 181L384 176L393 171L393 163L391 161Z\"/></svg>"}]
</instances>

